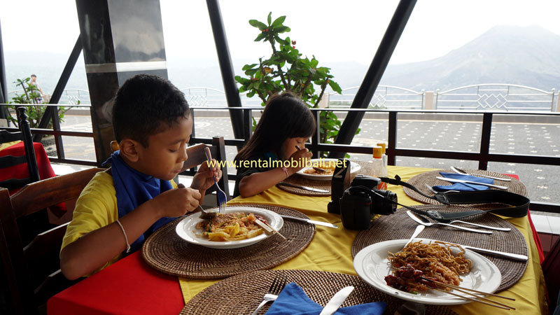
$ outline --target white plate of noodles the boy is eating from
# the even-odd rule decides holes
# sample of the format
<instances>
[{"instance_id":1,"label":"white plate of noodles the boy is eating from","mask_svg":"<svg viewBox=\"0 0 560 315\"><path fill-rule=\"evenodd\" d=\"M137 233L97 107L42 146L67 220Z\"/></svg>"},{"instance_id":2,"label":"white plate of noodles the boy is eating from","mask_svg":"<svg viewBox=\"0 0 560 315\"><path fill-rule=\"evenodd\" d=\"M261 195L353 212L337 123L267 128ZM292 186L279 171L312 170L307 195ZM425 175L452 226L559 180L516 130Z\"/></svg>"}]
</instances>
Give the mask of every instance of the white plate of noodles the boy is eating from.
<instances>
[{"instance_id":1,"label":"white plate of noodles the boy is eating from","mask_svg":"<svg viewBox=\"0 0 560 315\"><path fill-rule=\"evenodd\" d=\"M183 218L175 228L179 237L200 246L229 249L250 246L267 237L255 223L260 220L278 231L284 223L274 211L258 207L226 207L225 214L217 214L211 220L200 218L200 213Z\"/></svg>"}]
</instances>

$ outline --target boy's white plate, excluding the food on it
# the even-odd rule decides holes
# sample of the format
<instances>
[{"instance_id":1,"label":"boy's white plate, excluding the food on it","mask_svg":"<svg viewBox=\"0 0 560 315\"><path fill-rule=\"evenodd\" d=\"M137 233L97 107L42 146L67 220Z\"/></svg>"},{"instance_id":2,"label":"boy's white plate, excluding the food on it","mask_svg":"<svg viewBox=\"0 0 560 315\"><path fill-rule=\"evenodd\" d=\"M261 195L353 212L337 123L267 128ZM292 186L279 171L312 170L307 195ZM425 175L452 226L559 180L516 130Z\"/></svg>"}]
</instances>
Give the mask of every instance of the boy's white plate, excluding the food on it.
<instances>
[{"instance_id":1,"label":"boy's white plate, excluding the food on it","mask_svg":"<svg viewBox=\"0 0 560 315\"><path fill-rule=\"evenodd\" d=\"M276 231L280 230L282 228L282 225L284 224L283 218L279 214L276 214L276 212L267 209L242 206L226 207L225 213L229 214L230 212L252 212L253 214L258 214L265 218L269 225L272 226L272 228L274 228L274 230ZM202 218L200 218L200 212L191 214L190 216L187 216L186 218L181 220L179 224L177 224L175 232L177 232L177 235L179 235L179 237L188 241L189 243L220 249L239 248L253 245L270 236L266 233L262 233L261 235L257 235L255 237L252 237L251 239L241 239L240 241L210 241L209 239L207 239L207 237L203 237L202 235L200 235L202 233L202 230L197 230L196 225L200 221L202 221Z\"/></svg>"}]
</instances>

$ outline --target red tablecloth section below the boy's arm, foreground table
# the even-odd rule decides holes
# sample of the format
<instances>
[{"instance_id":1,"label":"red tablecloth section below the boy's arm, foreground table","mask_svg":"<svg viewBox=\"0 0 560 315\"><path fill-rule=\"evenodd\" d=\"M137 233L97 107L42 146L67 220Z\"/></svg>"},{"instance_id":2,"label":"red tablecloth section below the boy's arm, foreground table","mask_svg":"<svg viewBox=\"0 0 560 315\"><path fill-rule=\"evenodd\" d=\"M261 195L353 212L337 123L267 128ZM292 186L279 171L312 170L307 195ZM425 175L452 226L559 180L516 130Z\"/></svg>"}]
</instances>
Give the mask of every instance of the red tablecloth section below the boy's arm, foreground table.
<instances>
[{"instance_id":1,"label":"red tablecloth section below the boy's arm, foreground table","mask_svg":"<svg viewBox=\"0 0 560 315\"><path fill-rule=\"evenodd\" d=\"M179 314L184 306L177 277L149 267L137 251L51 297L47 313Z\"/></svg>"}]
</instances>

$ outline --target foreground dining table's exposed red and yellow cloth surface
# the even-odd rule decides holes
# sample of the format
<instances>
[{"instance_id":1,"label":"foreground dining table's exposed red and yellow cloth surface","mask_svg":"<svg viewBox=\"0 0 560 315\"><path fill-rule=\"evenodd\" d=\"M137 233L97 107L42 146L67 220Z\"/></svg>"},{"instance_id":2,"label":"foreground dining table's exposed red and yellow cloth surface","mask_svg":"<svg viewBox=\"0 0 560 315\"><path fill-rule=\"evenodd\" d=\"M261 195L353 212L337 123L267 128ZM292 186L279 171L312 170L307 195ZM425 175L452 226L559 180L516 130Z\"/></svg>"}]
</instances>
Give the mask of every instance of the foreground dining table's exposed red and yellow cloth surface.
<instances>
[{"instance_id":1,"label":"foreground dining table's exposed red and yellow cloth surface","mask_svg":"<svg viewBox=\"0 0 560 315\"><path fill-rule=\"evenodd\" d=\"M402 181L407 181L413 176L433 170L388 166L388 176L398 175ZM396 193L400 204L420 204L408 197L402 186L389 185L388 190ZM236 197L228 202L228 206L281 205L300 211L312 220L337 225L338 228L316 225L315 235L309 245L295 257L272 269L319 270L356 276L351 246L359 231L346 230L341 217L327 211L328 202L330 197L297 195L274 186L252 197ZM397 211L405 209L400 208ZM500 295L515 299L507 301L507 304L515 307L518 314L546 314L545 280L540 267L542 253L539 253L538 236L531 223L530 214L521 218L503 219L523 235L528 248L528 263L519 281L501 291ZM412 232L411 230L411 235ZM179 314L195 295L221 280L188 279L164 274L148 265L140 251L137 251L50 297L47 314ZM227 295L228 290L224 289L223 294ZM216 298L216 302L219 302L219 297ZM260 300L262 296L255 298ZM447 307L458 314L512 314L511 311L476 302Z\"/></svg>"}]
</instances>

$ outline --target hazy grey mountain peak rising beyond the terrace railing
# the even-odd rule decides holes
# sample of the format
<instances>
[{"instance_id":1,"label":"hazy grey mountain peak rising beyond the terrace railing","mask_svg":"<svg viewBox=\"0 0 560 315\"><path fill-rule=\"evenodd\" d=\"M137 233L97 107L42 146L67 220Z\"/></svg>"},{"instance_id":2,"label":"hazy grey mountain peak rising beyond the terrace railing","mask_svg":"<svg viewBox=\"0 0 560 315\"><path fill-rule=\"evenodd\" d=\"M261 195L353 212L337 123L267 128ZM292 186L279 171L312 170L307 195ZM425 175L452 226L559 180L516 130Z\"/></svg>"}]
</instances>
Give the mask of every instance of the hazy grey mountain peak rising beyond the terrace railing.
<instances>
[{"instance_id":1,"label":"hazy grey mountain peak rising beyond the terrace railing","mask_svg":"<svg viewBox=\"0 0 560 315\"><path fill-rule=\"evenodd\" d=\"M442 57L388 66L380 84L418 91L478 83L558 90L559 51L560 36L542 27L498 26Z\"/></svg>"}]
</instances>

